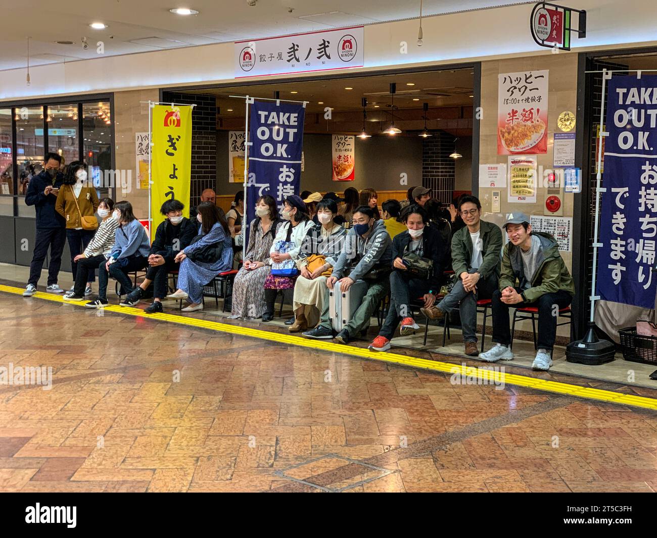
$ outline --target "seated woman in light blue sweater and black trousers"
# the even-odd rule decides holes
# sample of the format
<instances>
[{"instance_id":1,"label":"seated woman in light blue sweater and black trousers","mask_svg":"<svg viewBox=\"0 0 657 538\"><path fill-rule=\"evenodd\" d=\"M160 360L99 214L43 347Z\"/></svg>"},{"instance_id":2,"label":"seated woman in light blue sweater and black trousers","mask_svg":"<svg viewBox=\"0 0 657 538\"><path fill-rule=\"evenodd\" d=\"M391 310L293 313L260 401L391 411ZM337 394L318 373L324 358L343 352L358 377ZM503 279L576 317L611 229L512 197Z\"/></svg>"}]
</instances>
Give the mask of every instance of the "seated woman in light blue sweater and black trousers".
<instances>
[{"instance_id":1,"label":"seated woman in light blue sweater and black trousers","mask_svg":"<svg viewBox=\"0 0 657 538\"><path fill-rule=\"evenodd\" d=\"M133 283L127 273L141 271L146 267L150 240L146 229L135 218L132 204L122 200L114 204L112 217L119 223L110 258L101 263L98 275L98 298L85 304L87 308L102 308L108 305L107 281L111 275L121 284L121 294L133 290Z\"/></svg>"}]
</instances>

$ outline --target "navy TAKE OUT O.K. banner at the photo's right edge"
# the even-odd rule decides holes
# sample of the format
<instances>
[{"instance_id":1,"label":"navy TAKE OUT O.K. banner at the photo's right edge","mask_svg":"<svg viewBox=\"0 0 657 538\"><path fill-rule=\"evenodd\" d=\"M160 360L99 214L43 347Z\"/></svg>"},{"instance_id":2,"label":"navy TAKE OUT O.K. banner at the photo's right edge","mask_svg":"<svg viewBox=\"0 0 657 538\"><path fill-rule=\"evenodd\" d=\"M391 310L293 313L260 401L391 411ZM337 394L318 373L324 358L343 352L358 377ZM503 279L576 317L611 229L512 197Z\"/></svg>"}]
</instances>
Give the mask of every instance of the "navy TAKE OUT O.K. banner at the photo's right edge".
<instances>
[{"instance_id":1,"label":"navy TAKE OUT O.K. banner at the photo's right edge","mask_svg":"<svg viewBox=\"0 0 657 538\"><path fill-rule=\"evenodd\" d=\"M598 291L654 308L657 274L657 76L608 81Z\"/></svg>"}]
</instances>

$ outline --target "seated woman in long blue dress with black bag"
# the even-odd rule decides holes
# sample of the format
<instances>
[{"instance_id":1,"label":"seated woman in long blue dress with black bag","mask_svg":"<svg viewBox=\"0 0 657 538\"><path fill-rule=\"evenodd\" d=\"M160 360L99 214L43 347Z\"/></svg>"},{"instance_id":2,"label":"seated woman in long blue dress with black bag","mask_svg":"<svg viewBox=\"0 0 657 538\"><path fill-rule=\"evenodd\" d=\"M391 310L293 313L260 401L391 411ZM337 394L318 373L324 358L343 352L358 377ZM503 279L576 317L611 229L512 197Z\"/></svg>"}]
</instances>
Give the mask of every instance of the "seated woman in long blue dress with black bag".
<instances>
[{"instance_id":1,"label":"seated woman in long blue dress with black bag","mask_svg":"<svg viewBox=\"0 0 657 538\"><path fill-rule=\"evenodd\" d=\"M180 263L178 289L168 296L171 299L189 299L191 304L183 308L183 312L202 310L203 286L212 282L219 273L233 267L233 243L225 214L212 202L201 202L196 206L196 211L196 219L200 223L198 236L195 242L175 257L175 261ZM209 250L212 251L212 261L206 259ZM198 259L201 256L203 261Z\"/></svg>"}]
</instances>

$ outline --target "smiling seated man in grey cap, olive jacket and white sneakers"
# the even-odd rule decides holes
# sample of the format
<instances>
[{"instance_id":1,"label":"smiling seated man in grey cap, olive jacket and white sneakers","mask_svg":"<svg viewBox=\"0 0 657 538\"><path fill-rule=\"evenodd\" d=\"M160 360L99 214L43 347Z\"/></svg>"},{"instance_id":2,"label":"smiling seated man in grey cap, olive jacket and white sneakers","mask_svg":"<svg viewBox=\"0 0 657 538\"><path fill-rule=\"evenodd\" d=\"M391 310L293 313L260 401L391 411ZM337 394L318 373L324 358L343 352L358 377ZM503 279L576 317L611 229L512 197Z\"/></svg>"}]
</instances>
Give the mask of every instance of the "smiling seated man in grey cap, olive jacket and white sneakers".
<instances>
[{"instance_id":1,"label":"smiling seated man in grey cap, olive jacket and white sneakers","mask_svg":"<svg viewBox=\"0 0 657 538\"><path fill-rule=\"evenodd\" d=\"M529 222L524 213L510 213L504 225L509 242L503 251L499 290L493 294L491 305L495 346L479 358L491 363L512 359L509 307L535 306L538 308L538 352L532 368L549 370L556 338L556 315L572 302L575 285L555 238L547 233L532 232Z\"/></svg>"}]
</instances>

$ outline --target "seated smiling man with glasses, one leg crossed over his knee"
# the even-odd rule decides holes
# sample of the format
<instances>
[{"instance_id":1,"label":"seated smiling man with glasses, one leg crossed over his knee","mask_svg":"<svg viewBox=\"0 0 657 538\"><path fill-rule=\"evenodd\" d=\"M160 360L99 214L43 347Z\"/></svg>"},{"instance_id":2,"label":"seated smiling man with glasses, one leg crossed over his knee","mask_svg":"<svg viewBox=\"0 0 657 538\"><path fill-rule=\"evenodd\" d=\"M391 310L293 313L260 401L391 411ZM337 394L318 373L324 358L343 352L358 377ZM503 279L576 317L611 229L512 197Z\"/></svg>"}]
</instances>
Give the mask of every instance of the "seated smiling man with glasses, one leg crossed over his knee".
<instances>
[{"instance_id":1,"label":"seated smiling man with glasses, one leg crossed over his knee","mask_svg":"<svg viewBox=\"0 0 657 538\"><path fill-rule=\"evenodd\" d=\"M459 200L459 213L466 224L452 237L452 268L456 282L443 300L420 311L429 319L442 319L459 303L465 354L479 355L477 349L477 301L490 299L497 290L502 232L493 223L481 220L482 204L476 196Z\"/></svg>"}]
</instances>

